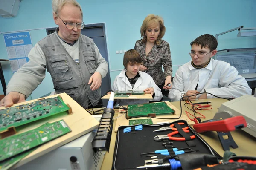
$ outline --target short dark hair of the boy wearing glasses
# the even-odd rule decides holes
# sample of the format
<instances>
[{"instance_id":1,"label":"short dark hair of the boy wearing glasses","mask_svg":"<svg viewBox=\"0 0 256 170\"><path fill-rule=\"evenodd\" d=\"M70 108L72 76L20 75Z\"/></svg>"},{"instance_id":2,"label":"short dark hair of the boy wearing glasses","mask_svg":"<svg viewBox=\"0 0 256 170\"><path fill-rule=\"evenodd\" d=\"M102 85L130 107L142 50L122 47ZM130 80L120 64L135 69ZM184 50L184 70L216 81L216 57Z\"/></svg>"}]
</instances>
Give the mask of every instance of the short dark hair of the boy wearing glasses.
<instances>
[{"instance_id":1,"label":"short dark hair of the boy wearing glasses","mask_svg":"<svg viewBox=\"0 0 256 170\"><path fill-rule=\"evenodd\" d=\"M216 38L210 34L204 34L204 35L197 37L195 40L193 40L190 43L190 46L192 46L193 44L196 44L198 46L201 45L201 48L207 47L210 49L210 51L217 49L217 46L218 46L218 42L217 42Z\"/></svg>"}]
</instances>

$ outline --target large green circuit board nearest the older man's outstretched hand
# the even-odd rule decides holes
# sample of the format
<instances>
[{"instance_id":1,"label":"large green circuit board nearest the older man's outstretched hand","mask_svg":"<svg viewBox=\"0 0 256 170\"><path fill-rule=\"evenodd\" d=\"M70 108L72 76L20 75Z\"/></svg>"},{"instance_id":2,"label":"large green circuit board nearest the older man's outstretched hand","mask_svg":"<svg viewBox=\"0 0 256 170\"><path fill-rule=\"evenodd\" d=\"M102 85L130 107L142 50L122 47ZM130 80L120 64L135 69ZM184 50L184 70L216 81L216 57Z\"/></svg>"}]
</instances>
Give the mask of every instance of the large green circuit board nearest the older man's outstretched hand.
<instances>
[{"instance_id":1,"label":"large green circuit board nearest the older man's outstretched hand","mask_svg":"<svg viewBox=\"0 0 256 170\"><path fill-rule=\"evenodd\" d=\"M0 132L69 109L59 96L3 109L0 110Z\"/></svg>"}]
</instances>

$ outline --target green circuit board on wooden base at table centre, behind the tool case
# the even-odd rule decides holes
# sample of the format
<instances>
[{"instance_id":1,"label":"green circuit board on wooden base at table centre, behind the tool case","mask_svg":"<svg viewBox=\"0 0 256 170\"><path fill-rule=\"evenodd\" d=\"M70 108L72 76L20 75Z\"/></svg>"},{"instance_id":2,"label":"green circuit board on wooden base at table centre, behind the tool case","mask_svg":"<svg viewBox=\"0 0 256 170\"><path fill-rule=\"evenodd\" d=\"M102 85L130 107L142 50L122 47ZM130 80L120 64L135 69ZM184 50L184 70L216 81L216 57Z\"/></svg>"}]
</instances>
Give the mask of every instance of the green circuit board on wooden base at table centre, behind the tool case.
<instances>
[{"instance_id":1,"label":"green circuit board on wooden base at table centre, behind the tool case","mask_svg":"<svg viewBox=\"0 0 256 170\"><path fill-rule=\"evenodd\" d=\"M137 116L147 116L150 114L160 115L168 113L174 114L175 112L165 102L128 105L129 118Z\"/></svg>"}]
</instances>

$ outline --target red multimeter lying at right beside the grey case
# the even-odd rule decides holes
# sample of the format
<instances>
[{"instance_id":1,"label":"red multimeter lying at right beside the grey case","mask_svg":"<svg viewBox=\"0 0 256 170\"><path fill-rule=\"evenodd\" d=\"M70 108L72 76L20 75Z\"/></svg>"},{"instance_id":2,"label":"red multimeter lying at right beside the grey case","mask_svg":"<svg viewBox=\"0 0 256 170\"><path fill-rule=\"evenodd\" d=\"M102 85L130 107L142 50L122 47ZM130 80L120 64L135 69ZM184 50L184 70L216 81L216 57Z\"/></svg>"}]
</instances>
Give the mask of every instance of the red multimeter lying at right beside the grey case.
<instances>
[{"instance_id":1,"label":"red multimeter lying at right beside the grey case","mask_svg":"<svg viewBox=\"0 0 256 170\"><path fill-rule=\"evenodd\" d=\"M207 131L230 132L247 127L247 123L243 116L235 116L227 119L203 121L202 123L194 124L193 127L198 133Z\"/></svg>"}]
</instances>

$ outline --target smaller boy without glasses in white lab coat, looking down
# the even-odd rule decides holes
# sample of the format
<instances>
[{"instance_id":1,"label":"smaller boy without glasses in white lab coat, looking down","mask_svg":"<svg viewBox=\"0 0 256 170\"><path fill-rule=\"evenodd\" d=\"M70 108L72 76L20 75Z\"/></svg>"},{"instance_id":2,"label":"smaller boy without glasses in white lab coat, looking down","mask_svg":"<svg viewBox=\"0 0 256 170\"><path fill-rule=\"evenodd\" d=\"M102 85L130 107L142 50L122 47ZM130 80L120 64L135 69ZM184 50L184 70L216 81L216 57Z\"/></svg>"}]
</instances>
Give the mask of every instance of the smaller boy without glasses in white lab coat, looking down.
<instances>
[{"instance_id":1,"label":"smaller boy without glasses in white lab coat, looking down","mask_svg":"<svg viewBox=\"0 0 256 170\"><path fill-rule=\"evenodd\" d=\"M160 88L155 84L153 78L145 72L139 71L140 69L141 57L140 54L134 50L130 49L124 54L123 65L125 69L116 76L113 83L113 91L144 91L146 94L151 94L153 100L159 101L163 95ZM142 104L148 103L149 100L145 99L122 99L118 100L119 105L127 104Z\"/></svg>"}]
</instances>

